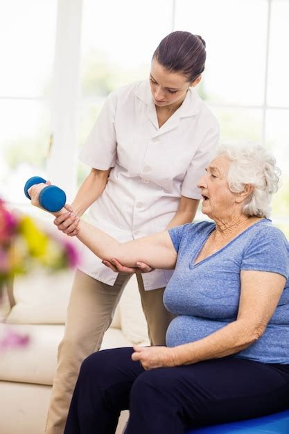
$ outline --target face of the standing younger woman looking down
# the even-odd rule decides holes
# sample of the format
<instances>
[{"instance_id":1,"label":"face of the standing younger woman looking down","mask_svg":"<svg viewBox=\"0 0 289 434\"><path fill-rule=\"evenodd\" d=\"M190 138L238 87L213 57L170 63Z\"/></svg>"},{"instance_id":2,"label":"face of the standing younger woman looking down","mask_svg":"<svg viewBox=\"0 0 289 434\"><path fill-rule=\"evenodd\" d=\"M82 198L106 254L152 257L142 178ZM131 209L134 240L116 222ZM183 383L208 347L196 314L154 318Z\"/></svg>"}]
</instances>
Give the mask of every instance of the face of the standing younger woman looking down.
<instances>
[{"instance_id":1,"label":"face of the standing younger woman looking down","mask_svg":"<svg viewBox=\"0 0 289 434\"><path fill-rule=\"evenodd\" d=\"M182 104L187 90L194 83L189 83L182 73L167 71L157 60L152 59L150 90L157 107Z\"/></svg>"}]
</instances>

